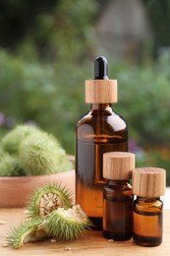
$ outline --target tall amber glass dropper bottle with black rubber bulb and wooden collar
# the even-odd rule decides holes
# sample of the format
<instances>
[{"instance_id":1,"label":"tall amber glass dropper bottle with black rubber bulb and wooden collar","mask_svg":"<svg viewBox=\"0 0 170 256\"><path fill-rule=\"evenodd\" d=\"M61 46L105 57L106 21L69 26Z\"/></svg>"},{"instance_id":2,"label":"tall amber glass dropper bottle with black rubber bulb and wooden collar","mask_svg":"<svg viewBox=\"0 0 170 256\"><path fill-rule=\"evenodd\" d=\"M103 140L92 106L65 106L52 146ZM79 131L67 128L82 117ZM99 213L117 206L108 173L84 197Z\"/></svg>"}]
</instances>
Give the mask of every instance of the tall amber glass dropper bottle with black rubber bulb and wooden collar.
<instances>
[{"instance_id":1,"label":"tall amber glass dropper bottle with black rubber bulb and wooden collar","mask_svg":"<svg viewBox=\"0 0 170 256\"><path fill-rule=\"evenodd\" d=\"M85 81L85 102L90 110L76 128L76 202L81 204L94 229L102 229L102 156L128 151L128 130L111 103L117 102L117 81L108 79L105 57L94 61L94 80Z\"/></svg>"}]
</instances>

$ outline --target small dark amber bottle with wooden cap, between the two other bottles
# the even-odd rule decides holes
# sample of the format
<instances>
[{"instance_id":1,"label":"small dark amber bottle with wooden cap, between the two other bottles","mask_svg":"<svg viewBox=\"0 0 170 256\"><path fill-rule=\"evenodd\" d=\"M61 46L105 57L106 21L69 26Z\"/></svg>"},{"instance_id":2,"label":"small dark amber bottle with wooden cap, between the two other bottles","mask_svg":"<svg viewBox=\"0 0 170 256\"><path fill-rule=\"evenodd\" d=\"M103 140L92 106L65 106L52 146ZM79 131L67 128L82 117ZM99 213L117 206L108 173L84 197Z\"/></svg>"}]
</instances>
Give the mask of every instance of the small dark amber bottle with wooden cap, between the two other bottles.
<instances>
[{"instance_id":1,"label":"small dark amber bottle with wooden cap, between the two other bottles","mask_svg":"<svg viewBox=\"0 0 170 256\"><path fill-rule=\"evenodd\" d=\"M133 192L130 184L135 155L112 152L103 155L103 235L128 240L133 234Z\"/></svg>"}]
</instances>

